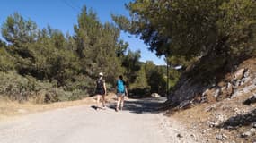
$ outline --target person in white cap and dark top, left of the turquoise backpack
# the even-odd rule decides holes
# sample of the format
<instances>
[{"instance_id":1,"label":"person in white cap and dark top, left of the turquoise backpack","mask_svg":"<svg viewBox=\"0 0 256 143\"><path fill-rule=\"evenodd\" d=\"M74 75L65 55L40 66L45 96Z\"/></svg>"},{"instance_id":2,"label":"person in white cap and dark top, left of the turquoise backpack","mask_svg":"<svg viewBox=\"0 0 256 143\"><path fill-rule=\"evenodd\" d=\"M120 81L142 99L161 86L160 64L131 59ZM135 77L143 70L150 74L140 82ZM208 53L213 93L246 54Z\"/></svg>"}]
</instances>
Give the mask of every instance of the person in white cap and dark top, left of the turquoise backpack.
<instances>
[{"instance_id":1,"label":"person in white cap and dark top, left of the turquoise backpack","mask_svg":"<svg viewBox=\"0 0 256 143\"><path fill-rule=\"evenodd\" d=\"M96 80L96 91L95 91L95 94L97 96L96 110L97 110L97 108L99 108L99 103L100 103L101 97L102 97L102 107L105 108L105 96L107 94L105 80L103 80L103 73L100 72L99 76L100 76L100 78L98 80Z\"/></svg>"}]
</instances>

